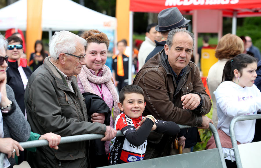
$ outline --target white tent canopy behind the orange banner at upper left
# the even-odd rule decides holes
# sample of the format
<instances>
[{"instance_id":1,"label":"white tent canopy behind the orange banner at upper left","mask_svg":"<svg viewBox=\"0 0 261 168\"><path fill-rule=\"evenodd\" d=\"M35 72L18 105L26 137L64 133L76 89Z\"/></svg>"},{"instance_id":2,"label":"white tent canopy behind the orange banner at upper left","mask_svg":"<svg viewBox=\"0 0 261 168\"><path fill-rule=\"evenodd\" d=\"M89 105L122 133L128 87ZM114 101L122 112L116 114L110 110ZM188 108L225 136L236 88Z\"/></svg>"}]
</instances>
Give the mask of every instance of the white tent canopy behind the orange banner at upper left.
<instances>
[{"instance_id":1,"label":"white tent canopy behind the orange banner at upper left","mask_svg":"<svg viewBox=\"0 0 261 168\"><path fill-rule=\"evenodd\" d=\"M26 31L27 0L0 9L0 30ZM117 19L86 8L71 0L43 0L42 31L116 30Z\"/></svg>"}]
</instances>

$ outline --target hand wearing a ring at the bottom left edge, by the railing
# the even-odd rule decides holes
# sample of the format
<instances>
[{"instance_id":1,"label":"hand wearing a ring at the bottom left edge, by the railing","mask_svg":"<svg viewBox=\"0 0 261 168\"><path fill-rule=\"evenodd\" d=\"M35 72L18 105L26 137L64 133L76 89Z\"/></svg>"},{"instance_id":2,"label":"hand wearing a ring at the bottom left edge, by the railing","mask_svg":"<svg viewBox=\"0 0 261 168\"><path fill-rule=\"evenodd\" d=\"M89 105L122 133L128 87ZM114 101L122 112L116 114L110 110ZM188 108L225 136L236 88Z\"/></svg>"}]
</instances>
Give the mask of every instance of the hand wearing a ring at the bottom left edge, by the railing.
<instances>
[{"instance_id":1,"label":"hand wearing a ring at the bottom left edge, by the railing","mask_svg":"<svg viewBox=\"0 0 261 168\"><path fill-rule=\"evenodd\" d=\"M6 153L8 158L16 153L19 156L19 150L23 151L23 147L19 144L19 142L13 140L12 138L0 138L0 152Z\"/></svg>"}]
</instances>

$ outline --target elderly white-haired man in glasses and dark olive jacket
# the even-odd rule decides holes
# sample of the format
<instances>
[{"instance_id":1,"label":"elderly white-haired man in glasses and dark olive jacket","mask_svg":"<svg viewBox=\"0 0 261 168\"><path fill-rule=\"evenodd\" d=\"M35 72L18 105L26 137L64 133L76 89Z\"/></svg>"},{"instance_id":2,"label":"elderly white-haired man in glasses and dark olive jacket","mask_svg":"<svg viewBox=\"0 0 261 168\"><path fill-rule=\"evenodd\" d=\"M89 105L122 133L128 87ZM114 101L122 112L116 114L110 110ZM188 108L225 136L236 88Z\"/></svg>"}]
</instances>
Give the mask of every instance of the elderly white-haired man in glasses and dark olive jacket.
<instances>
[{"instance_id":1,"label":"elderly white-haired man in glasses and dark olive jacket","mask_svg":"<svg viewBox=\"0 0 261 168\"><path fill-rule=\"evenodd\" d=\"M68 31L55 32L49 43L50 57L29 78L25 103L32 131L63 136L87 133L105 134L111 140L116 132L105 124L90 123L84 97L74 75L86 64L86 40ZM95 105L94 105L95 106ZM60 144L58 150L46 146L29 152L31 167L88 167L88 141Z\"/></svg>"}]
</instances>

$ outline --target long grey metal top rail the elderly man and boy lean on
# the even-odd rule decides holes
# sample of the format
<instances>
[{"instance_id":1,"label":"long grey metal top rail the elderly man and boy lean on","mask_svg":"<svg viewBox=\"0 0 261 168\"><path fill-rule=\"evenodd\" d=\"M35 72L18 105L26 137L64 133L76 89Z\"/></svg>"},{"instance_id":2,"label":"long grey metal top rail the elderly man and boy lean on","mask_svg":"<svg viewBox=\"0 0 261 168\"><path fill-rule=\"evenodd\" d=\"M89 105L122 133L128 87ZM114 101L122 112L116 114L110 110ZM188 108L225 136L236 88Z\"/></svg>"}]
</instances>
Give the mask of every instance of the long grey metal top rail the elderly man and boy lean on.
<instances>
[{"instance_id":1,"label":"long grey metal top rail the elderly man and boy lean on","mask_svg":"<svg viewBox=\"0 0 261 168\"><path fill-rule=\"evenodd\" d=\"M186 126L186 125L179 125L180 128L191 128L191 126ZM226 163L224 159L224 153L222 151L220 139L218 136L218 131L213 126L213 124L209 123L209 128L211 132L214 135L215 143L218 148L218 152L220 155L222 167L226 168ZM121 131L117 131L116 136L123 136ZM84 135L73 135L73 136L68 136L68 137L61 137L61 142L60 144L65 144L65 143L70 143L70 142L79 142L79 141L86 141L86 140L95 140L95 139L101 139L103 138L104 135L102 134L84 134ZM47 146L48 141L47 140L35 140L35 141L28 141L28 142L20 142L20 145L26 149L26 148L32 148L32 147L39 147L39 146ZM3 168L3 158L5 156L5 153L0 153L0 168Z\"/></svg>"}]
</instances>

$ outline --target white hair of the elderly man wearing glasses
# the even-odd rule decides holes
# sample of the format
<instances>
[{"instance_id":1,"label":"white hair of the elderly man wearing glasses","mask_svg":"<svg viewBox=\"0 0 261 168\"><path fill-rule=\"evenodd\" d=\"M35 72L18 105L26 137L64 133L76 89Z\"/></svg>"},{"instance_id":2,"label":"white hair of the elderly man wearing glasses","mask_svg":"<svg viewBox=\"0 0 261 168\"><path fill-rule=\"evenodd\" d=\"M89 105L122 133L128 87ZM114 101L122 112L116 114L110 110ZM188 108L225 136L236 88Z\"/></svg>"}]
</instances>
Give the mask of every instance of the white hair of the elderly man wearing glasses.
<instances>
[{"instance_id":1,"label":"white hair of the elderly man wearing glasses","mask_svg":"<svg viewBox=\"0 0 261 168\"><path fill-rule=\"evenodd\" d=\"M69 31L56 31L49 42L49 52L53 60L57 60L60 53L74 53L77 43L86 45L86 40Z\"/></svg>"}]
</instances>

